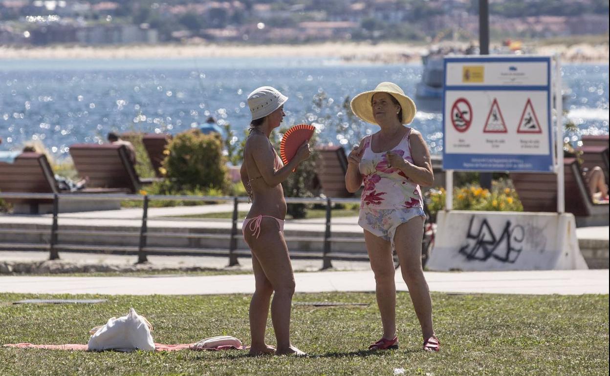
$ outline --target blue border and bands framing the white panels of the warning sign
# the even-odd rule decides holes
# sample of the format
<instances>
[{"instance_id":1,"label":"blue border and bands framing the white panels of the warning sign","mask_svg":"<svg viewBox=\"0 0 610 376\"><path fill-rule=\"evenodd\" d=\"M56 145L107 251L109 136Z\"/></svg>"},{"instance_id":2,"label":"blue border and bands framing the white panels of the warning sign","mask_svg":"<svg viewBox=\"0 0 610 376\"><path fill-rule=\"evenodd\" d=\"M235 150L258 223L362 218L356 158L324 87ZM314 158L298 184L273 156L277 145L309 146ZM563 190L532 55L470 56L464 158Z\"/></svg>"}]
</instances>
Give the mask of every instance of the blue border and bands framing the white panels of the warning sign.
<instances>
[{"instance_id":1,"label":"blue border and bands framing the white panels of the warning sign","mask_svg":"<svg viewBox=\"0 0 610 376\"><path fill-rule=\"evenodd\" d=\"M445 57L443 59L443 169L456 171L522 171L522 172L554 172L553 129L551 127L551 57ZM519 85L451 85L447 86L447 63L507 63L507 62L545 62L547 63L547 85L519 86ZM445 98L447 91L546 91L547 92L547 129L549 154L545 155L512 155L512 154L447 154L445 140ZM542 125L542 124L541 124ZM479 167L477 167L479 166Z\"/></svg>"}]
</instances>

